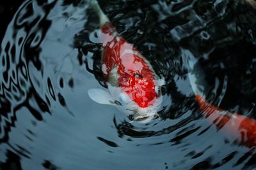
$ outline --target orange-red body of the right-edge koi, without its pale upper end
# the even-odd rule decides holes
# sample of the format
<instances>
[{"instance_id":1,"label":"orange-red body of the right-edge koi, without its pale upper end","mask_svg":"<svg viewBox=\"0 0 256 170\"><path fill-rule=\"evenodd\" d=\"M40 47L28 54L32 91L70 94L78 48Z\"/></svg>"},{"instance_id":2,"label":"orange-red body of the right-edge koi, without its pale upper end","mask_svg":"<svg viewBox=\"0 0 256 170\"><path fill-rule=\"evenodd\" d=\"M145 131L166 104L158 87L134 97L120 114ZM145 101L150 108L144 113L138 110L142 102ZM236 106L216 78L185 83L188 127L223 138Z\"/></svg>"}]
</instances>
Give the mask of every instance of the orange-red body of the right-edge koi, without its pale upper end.
<instances>
[{"instance_id":1,"label":"orange-red body of the right-edge koi, without its pale upper end","mask_svg":"<svg viewBox=\"0 0 256 170\"><path fill-rule=\"evenodd\" d=\"M196 95L196 100L207 120L216 125L217 129L225 132L230 139L235 139L239 145L245 145L249 148L256 146L256 120L221 110L207 103L200 95Z\"/></svg>"}]
</instances>

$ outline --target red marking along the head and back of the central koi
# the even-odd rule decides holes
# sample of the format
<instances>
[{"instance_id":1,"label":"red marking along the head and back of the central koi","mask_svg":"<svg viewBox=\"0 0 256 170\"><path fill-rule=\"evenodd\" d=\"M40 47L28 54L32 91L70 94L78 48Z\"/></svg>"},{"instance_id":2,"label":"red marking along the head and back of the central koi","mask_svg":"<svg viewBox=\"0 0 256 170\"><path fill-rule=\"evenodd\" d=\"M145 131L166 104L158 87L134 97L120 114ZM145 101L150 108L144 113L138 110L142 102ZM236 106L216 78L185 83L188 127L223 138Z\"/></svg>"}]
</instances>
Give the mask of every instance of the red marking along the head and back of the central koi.
<instances>
[{"instance_id":1,"label":"red marking along the head and back of the central koi","mask_svg":"<svg viewBox=\"0 0 256 170\"><path fill-rule=\"evenodd\" d=\"M141 108L152 106L158 97L153 71L134 46L115 34L111 24L103 25L101 43L104 46L102 62L106 67L103 71L105 80L108 81L110 71L118 67L118 85L122 92Z\"/></svg>"}]
</instances>

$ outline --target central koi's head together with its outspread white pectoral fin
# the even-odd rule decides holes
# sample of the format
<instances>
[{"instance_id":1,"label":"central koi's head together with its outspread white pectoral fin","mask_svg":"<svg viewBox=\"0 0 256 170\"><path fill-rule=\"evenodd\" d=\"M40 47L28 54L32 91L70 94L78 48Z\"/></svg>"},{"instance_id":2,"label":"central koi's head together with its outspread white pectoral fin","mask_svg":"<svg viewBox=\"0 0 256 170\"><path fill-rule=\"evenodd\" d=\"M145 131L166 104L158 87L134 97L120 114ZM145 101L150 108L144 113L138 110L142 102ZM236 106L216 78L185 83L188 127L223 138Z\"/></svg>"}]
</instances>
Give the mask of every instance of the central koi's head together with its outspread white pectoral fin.
<instances>
[{"instance_id":1,"label":"central koi's head together with its outspread white pectoral fin","mask_svg":"<svg viewBox=\"0 0 256 170\"><path fill-rule=\"evenodd\" d=\"M129 119L135 122L147 123L159 117L157 111L161 109L163 96L161 87L163 78L154 74L116 74L113 69L108 78L108 91L102 89L90 89L90 98L100 104L110 104L129 115ZM153 76L152 76L153 75Z\"/></svg>"}]
</instances>

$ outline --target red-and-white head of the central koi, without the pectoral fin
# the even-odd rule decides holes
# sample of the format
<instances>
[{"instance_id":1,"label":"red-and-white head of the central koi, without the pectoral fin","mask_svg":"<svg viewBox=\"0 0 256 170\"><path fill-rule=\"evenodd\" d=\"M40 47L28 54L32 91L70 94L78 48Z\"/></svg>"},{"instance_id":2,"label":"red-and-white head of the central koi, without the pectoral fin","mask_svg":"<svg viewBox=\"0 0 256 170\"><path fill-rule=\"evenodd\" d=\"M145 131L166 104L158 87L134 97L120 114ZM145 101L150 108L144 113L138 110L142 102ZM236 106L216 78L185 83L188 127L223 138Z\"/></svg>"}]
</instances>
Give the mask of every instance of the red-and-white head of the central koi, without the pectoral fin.
<instances>
[{"instance_id":1,"label":"red-and-white head of the central koi, without the pectoral fin","mask_svg":"<svg viewBox=\"0 0 256 170\"><path fill-rule=\"evenodd\" d=\"M154 75L150 75L132 73L127 78L126 85L120 87L118 101L128 112L130 120L147 123L159 117L157 111L163 101L161 87L164 85L164 80L159 78L156 80Z\"/></svg>"}]
</instances>

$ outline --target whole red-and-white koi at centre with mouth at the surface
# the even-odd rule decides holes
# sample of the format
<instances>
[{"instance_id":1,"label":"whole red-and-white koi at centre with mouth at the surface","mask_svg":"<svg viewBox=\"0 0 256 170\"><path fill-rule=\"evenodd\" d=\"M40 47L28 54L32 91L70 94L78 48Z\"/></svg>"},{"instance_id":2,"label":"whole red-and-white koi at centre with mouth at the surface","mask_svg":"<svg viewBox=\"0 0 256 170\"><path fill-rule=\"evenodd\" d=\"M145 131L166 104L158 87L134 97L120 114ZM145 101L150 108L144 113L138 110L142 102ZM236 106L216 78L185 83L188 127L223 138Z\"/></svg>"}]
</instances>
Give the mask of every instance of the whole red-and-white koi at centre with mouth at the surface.
<instances>
[{"instance_id":1,"label":"whole red-and-white koi at centre with mouth at the surface","mask_svg":"<svg viewBox=\"0 0 256 170\"><path fill-rule=\"evenodd\" d=\"M100 43L104 48L102 74L108 91L90 89L88 96L97 103L117 106L137 122L146 123L158 117L163 101L163 78L159 78L150 62L115 31L97 1L90 1L90 6L100 18Z\"/></svg>"}]
</instances>

